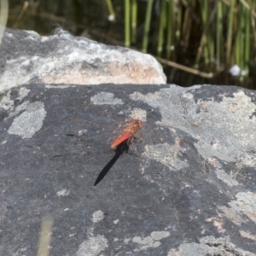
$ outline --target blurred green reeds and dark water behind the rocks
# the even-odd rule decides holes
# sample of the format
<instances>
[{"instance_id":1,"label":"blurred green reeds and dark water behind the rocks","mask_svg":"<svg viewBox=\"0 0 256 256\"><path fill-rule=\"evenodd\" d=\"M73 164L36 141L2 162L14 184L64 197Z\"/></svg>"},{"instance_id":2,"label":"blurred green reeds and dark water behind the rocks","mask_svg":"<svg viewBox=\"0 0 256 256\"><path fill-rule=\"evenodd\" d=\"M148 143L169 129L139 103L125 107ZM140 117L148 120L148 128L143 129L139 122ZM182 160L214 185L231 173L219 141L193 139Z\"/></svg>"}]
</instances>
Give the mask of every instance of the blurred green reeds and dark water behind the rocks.
<instances>
[{"instance_id":1,"label":"blurred green reeds and dark water behind the rocks","mask_svg":"<svg viewBox=\"0 0 256 256\"><path fill-rule=\"evenodd\" d=\"M7 25L154 55L167 82L256 89L255 0L9 0Z\"/></svg>"}]
</instances>

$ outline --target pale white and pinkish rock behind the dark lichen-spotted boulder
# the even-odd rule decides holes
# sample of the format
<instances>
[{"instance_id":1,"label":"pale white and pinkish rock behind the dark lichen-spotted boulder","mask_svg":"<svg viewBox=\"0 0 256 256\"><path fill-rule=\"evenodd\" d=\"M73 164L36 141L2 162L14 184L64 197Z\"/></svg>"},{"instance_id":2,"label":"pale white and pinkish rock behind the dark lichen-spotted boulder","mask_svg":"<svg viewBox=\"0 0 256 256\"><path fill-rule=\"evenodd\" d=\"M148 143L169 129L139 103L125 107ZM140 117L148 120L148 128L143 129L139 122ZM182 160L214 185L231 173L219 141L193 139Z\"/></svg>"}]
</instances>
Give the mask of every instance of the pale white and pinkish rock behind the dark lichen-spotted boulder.
<instances>
[{"instance_id":1,"label":"pale white and pinkish rock behind the dark lichen-spotted boulder","mask_svg":"<svg viewBox=\"0 0 256 256\"><path fill-rule=\"evenodd\" d=\"M164 84L162 67L151 55L74 38L43 37L6 29L0 44L0 91L20 84Z\"/></svg>"}]
</instances>

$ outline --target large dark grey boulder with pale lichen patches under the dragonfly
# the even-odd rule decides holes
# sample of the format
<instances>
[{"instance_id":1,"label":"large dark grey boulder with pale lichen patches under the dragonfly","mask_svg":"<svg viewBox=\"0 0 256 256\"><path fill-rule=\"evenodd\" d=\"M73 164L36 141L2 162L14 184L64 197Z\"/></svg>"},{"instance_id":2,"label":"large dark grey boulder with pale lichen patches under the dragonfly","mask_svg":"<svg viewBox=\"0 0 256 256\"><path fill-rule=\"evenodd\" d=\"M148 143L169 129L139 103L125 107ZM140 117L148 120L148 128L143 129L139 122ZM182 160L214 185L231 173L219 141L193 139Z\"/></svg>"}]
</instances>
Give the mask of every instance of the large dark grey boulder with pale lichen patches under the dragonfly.
<instances>
[{"instance_id":1,"label":"large dark grey boulder with pale lichen patches under the dragonfly","mask_svg":"<svg viewBox=\"0 0 256 256\"><path fill-rule=\"evenodd\" d=\"M256 255L255 109L230 86L5 91L0 255L36 255L42 218L50 255ZM131 118L139 139L114 155Z\"/></svg>"}]
</instances>

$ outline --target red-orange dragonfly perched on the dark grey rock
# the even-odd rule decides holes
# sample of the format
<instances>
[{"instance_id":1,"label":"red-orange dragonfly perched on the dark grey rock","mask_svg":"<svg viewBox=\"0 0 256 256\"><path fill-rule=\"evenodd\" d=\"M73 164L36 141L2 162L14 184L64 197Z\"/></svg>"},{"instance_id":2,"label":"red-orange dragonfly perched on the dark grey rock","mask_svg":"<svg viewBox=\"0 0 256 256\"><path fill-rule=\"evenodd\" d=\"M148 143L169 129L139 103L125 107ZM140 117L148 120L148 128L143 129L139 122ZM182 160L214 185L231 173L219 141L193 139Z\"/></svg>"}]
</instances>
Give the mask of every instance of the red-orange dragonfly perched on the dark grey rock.
<instances>
[{"instance_id":1,"label":"red-orange dragonfly perched on the dark grey rock","mask_svg":"<svg viewBox=\"0 0 256 256\"><path fill-rule=\"evenodd\" d=\"M124 133L113 141L111 148L116 148L120 143L125 142L125 140L128 140L128 144L131 143L132 137L134 137L137 131L142 127L143 122L141 120L131 119L131 121L125 125Z\"/></svg>"}]
</instances>

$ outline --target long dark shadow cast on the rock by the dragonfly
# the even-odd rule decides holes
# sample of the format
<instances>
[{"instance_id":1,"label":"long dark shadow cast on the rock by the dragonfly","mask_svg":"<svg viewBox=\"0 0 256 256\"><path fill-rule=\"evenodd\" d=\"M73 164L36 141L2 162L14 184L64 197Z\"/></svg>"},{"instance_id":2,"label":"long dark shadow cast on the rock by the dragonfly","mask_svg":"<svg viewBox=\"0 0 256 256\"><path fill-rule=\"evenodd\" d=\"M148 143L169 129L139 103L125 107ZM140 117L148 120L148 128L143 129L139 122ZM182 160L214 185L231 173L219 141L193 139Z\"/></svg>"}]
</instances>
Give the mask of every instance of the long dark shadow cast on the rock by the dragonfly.
<instances>
[{"instance_id":1,"label":"long dark shadow cast on the rock by the dragonfly","mask_svg":"<svg viewBox=\"0 0 256 256\"><path fill-rule=\"evenodd\" d=\"M94 186L96 186L98 183L102 181L102 179L107 175L107 173L110 171L114 163L119 159L121 154L124 152L128 152L129 145L127 143L127 140L125 140L123 143L120 143L117 148L115 148L115 154L113 155L113 158L108 162L106 166L102 169L98 177L96 178L96 182L94 183Z\"/></svg>"}]
</instances>

